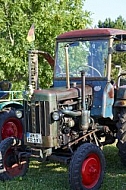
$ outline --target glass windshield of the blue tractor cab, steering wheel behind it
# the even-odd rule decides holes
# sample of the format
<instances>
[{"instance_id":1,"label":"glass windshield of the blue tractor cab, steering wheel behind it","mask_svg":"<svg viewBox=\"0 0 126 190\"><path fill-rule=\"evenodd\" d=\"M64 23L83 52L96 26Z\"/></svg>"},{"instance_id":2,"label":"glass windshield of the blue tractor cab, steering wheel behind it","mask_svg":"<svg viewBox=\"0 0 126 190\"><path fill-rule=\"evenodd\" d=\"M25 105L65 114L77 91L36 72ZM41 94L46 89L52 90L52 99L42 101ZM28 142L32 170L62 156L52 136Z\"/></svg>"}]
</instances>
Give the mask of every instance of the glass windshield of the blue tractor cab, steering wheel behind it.
<instances>
[{"instance_id":1,"label":"glass windshield of the blue tractor cab, steering wheel behind it","mask_svg":"<svg viewBox=\"0 0 126 190\"><path fill-rule=\"evenodd\" d=\"M108 56L108 40L58 42L54 77L66 76L65 47L68 47L70 77L80 77L85 71L87 77L105 77Z\"/></svg>"}]
</instances>

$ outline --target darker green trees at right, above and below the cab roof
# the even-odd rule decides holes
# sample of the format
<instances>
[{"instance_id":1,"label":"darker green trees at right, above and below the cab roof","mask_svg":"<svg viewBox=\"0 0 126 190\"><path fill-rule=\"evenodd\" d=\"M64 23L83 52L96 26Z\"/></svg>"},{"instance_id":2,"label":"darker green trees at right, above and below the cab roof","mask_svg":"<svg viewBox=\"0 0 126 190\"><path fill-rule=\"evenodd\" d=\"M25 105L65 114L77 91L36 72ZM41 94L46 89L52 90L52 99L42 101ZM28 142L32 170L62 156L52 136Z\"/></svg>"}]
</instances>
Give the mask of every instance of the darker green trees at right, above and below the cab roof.
<instances>
[{"instance_id":1,"label":"darker green trees at right, above and below the cab roof","mask_svg":"<svg viewBox=\"0 0 126 190\"><path fill-rule=\"evenodd\" d=\"M122 16L117 17L115 21L112 21L110 18L106 18L104 22L98 22L99 28L118 28L126 30L126 20L122 18ZM117 79L118 70L116 69L116 65L120 65L122 70L125 70L125 63L126 63L126 53L113 53L112 57L112 78Z\"/></svg>"}]
</instances>

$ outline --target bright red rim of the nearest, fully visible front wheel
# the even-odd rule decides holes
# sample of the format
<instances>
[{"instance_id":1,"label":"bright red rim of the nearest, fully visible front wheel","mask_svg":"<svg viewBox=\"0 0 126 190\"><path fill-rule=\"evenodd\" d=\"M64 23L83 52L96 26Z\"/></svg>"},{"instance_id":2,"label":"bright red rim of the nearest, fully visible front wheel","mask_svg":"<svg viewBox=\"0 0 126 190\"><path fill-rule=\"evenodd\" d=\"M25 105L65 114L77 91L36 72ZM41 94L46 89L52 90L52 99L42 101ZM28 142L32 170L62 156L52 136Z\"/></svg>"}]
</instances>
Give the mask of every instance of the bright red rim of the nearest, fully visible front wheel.
<instances>
[{"instance_id":1,"label":"bright red rim of the nearest, fully visible front wheel","mask_svg":"<svg viewBox=\"0 0 126 190\"><path fill-rule=\"evenodd\" d=\"M101 173L100 159L96 154L90 154L83 162L81 175L82 183L87 188L93 188Z\"/></svg>"}]
</instances>

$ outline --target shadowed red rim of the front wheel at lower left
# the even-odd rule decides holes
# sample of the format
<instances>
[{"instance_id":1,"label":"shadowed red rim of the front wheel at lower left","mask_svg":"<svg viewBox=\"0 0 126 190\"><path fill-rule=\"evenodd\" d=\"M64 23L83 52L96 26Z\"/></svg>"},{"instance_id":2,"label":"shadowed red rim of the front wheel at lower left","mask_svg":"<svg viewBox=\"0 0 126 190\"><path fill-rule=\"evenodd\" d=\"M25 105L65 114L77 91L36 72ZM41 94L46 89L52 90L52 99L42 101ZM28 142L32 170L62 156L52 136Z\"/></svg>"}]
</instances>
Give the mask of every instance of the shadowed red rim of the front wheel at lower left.
<instances>
[{"instance_id":1,"label":"shadowed red rim of the front wheel at lower left","mask_svg":"<svg viewBox=\"0 0 126 190\"><path fill-rule=\"evenodd\" d=\"M20 161L20 163L15 159L15 155L12 149L9 149L4 157L4 167L6 172L10 177L20 176L26 165L26 160Z\"/></svg>"}]
</instances>

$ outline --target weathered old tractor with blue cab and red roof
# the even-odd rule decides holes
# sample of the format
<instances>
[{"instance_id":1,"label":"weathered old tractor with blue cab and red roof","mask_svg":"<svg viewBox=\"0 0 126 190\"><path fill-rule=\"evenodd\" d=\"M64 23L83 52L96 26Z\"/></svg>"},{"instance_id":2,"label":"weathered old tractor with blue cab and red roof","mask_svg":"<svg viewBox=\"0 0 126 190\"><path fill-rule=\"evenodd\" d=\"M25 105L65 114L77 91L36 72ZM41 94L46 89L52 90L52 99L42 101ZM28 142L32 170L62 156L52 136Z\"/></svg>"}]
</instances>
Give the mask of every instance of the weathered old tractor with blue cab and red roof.
<instances>
[{"instance_id":1,"label":"weathered old tractor with blue cab and red roof","mask_svg":"<svg viewBox=\"0 0 126 190\"><path fill-rule=\"evenodd\" d=\"M111 79L112 55L125 53L125 40L123 30L75 30L57 37L55 60L29 51L24 138L1 142L1 180L25 175L33 157L68 163L72 190L97 190L105 173L102 148L116 139L126 164L125 73L119 72L116 85ZM38 86L39 54L54 68L49 89Z\"/></svg>"}]
</instances>

